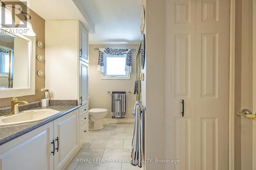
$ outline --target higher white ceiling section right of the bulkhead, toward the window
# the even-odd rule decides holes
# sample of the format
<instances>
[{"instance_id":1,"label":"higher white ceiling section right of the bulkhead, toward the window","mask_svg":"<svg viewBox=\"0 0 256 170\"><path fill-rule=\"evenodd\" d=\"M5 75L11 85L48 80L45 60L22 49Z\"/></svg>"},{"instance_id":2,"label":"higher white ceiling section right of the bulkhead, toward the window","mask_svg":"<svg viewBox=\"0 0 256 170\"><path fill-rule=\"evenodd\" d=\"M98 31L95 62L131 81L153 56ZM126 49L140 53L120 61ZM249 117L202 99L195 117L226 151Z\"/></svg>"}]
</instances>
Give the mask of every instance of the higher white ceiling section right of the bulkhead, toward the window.
<instances>
[{"instance_id":1,"label":"higher white ceiling section right of the bulkhead, toward the window","mask_svg":"<svg viewBox=\"0 0 256 170\"><path fill-rule=\"evenodd\" d=\"M141 0L80 0L95 25L90 44L138 44Z\"/></svg>"}]
</instances>

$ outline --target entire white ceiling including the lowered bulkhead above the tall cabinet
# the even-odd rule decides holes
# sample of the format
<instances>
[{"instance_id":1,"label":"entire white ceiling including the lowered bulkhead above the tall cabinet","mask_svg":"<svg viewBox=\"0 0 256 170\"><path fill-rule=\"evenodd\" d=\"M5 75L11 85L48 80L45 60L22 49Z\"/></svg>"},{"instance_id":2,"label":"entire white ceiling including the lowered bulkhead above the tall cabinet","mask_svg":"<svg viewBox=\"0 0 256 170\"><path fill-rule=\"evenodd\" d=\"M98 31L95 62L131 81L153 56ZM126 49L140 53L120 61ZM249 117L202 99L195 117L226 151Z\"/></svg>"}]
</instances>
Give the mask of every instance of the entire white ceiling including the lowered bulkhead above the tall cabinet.
<instances>
[{"instance_id":1,"label":"entire white ceiling including the lowered bulkhead above the tall cabinet","mask_svg":"<svg viewBox=\"0 0 256 170\"><path fill-rule=\"evenodd\" d=\"M80 20L90 32L90 44L139 44L140 42L141 0L26 2L29 8L46 20Z\"/></svg>"}]
</instances>

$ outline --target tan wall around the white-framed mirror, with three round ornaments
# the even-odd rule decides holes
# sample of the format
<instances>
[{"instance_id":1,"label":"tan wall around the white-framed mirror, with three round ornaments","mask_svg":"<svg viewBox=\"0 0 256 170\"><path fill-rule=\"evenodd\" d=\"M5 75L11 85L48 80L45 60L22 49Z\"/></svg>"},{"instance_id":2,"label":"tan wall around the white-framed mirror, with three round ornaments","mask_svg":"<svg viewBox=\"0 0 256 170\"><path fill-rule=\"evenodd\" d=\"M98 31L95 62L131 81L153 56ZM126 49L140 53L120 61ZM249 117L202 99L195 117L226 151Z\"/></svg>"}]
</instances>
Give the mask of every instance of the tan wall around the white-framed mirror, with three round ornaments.
<instances>
[{"instance_id":1,"label":"tan wall around the white-framed mirror, with three round ornaments","mask_svg":"<svg viewBox=\"0 0 256 170\"><path fill-rule=\"evenodd\" d=\"M42 41L45 44L45 19L37 15L34 11L30 10L30 15L32 19L30 20L33 30L36 33L36 42ZM36 56L37 55L45 56L45 48L39 48L36 46ZM44 70L45 71L45 61L39 62L35 61L35 71ZM34 102L40 100L40 89L45 87L45 77L35 77L35 95L28 95L19 100L25 100L28 102ZM11 98L0 99L0 107L10 106Z\"/></svg>"}]
</instances>

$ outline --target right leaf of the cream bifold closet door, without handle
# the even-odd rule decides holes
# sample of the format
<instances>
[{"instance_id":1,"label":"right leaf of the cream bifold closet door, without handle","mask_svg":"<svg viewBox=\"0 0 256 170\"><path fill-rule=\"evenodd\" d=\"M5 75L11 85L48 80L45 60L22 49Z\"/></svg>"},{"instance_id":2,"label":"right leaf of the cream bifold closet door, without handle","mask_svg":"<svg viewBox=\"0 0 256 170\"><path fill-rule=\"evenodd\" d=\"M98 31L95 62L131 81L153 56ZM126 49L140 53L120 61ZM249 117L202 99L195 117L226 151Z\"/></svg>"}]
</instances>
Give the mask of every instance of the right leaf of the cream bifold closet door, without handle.
<instances>
[{"instance_id":1,"label":"right leaf of the cream bifold closet door, without handle","mask_svg":"<svg viewBox=\"0 0 256 170\"><path fill-rule=\"evenodd\" d=\"M197 0L196 169L228 169L229 0Z\"/></svg>"}]
</instances>

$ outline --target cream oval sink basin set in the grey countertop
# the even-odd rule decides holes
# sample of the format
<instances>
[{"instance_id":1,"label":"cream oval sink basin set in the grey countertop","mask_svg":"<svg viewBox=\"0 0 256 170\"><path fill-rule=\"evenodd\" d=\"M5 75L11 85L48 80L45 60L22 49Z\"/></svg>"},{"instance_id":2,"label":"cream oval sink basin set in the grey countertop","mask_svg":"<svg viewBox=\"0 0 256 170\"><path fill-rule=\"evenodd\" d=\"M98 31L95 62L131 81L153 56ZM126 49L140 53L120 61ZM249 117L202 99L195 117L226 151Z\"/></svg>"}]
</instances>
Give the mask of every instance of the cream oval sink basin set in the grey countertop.
<instances>
[{"instance_id":1,"label":"cream oval sink basin set in the grey countertop","mask_svg":"<svg viewBox=\"0 0 256 170\"><path fill-rule=\"evenodd\" d=\"M59 111L53 109L27 110L11 116L1 116L0 126L10 126L37 122L39 120L47 119L58 113Z\"/></svg>"}]
</instances>

